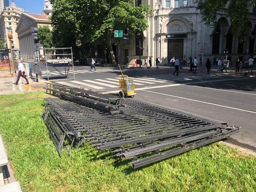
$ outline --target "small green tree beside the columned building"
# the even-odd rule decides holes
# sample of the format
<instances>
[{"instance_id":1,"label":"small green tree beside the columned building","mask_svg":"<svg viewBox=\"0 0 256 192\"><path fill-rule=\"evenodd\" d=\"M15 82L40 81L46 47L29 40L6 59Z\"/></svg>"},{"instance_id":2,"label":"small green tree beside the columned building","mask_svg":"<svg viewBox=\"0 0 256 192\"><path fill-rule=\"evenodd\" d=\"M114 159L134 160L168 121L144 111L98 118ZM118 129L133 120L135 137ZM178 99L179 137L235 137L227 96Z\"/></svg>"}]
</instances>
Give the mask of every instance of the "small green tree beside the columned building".
<instances>
[{"instance_id":1,"label":"small green tree beside the columned building","mask_svg":"<svg viewBox=\"0 0 256 192\"><path fill-rule=\"evenodd\" d=\"M48 26L39 27L37 37L38 37L37 42L42 44L43 47L45 48L52 47L53 45L52 32Z\"/></svg>"}]
</instances>

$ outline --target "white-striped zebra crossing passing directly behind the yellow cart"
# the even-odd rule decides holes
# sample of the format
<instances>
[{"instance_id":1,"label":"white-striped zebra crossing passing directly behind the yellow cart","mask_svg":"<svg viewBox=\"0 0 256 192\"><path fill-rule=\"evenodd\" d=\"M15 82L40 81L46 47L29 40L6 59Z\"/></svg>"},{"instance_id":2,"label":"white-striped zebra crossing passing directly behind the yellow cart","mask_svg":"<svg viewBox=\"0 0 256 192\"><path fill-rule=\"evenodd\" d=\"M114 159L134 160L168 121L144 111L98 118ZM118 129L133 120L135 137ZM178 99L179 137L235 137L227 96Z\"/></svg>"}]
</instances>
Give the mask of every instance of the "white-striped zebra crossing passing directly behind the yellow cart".
<instances>
[{"instance_id":1,"label":"white-striped zebra crossing passing directly behind the yellow cart","mask_svg":"<svg viewBox=\"0 0 256 192\"><path fill-rule=\"evenodd\" d=\"M156 86L157 84L167 85L170 83L187 83L191 80L219 80L220 76L216 74L212 75L192 75L192 74L184 74L180 76L173 76L173 74L169 73L166 75L146 75L146 76L134 76L129 77L130 79L134 79L135 82L135 89L136 88L143 88L143 87L150 87ZM104 79L84 79L81 81L70 80L68 83L65 82L58 82L59 84L73 86L73 87L82 87L84 89L91 89L91 90L99 90L103 91L104 89L117 89L119 90L119 80L120 77L114 78L104 78Z\"/></svg>"}]
</instances>

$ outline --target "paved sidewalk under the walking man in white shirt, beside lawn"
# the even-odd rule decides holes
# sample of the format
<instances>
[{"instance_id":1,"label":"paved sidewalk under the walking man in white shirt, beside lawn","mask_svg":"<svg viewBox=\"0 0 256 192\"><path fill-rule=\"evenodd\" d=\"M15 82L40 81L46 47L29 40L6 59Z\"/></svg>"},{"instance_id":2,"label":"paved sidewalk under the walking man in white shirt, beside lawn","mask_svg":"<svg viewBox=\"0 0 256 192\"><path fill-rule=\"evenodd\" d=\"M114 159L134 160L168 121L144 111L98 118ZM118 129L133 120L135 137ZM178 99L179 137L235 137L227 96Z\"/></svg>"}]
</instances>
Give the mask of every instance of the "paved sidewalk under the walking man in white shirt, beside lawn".
<instances>
[{"instance_id":1,"label":"paved sidewalk under the walking man in white shirt, beside lawn","mask_svg":"<svg viewBox=\"0 0 256 192\"><path fill-rule=\"evenodd\" d=\"M0 71L0 95L8 95L14 93L23 93L31 91L45 90L45 80L28 79L29 85L25 85L26 81L24 78L20 78L18 85L13 84L17 80L17 75L12 77L9 71Z\"/></svg>"}]
</instances>

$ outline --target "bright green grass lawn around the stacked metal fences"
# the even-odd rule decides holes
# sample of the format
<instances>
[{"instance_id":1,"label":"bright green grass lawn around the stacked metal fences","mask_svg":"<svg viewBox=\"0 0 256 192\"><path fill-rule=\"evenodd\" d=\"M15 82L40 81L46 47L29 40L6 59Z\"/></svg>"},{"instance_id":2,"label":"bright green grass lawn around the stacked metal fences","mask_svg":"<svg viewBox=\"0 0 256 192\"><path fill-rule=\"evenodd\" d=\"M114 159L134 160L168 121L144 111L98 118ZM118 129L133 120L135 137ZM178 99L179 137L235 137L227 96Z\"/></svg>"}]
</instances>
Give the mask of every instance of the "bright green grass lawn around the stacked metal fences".
<instances>
[{"instance_id":1,"label":"bright green grass lawn around the stacked metal fences","mask_svg":"<svg viewBox=\"0 0 256 192\"><path fill-rule=\"evenodd\" d=\"M60 158L40 117L48 96L0 96L0 132L22 191L256 191L256 157L221 142L138 170L86 143Z\"/></svg>"}]
</instances>

